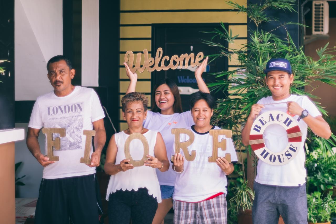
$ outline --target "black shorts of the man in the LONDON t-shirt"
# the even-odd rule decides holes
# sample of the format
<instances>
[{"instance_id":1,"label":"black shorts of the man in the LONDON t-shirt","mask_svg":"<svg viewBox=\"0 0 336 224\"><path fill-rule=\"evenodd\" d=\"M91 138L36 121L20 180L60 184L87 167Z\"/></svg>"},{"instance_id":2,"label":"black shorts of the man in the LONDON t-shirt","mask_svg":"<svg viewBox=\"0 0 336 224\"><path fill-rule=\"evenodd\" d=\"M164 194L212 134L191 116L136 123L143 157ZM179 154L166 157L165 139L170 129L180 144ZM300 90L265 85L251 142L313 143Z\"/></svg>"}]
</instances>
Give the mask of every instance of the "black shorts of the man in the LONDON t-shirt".
<instances>
[{"instance_id":1,"label":"black shorts of the man in the LONDON t-shirt","mask_svg":"<svg viewBox=\"0 0 336 224\"><path fill-rule=\"evenodd\" d=\"M98 224L102 215L95 174L42 179L36 204L36 224Z\"/></svg>"}]
</instances>

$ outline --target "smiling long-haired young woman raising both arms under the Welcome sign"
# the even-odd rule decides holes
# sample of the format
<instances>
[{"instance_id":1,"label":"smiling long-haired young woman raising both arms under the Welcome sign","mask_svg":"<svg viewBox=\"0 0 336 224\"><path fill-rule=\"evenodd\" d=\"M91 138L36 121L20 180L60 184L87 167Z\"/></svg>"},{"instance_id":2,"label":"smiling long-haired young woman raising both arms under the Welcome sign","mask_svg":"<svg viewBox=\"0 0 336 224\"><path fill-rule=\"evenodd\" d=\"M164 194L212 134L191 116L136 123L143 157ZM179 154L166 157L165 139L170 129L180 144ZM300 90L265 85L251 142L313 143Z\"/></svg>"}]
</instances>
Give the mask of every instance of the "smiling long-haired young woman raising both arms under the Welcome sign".
<instances>
[{"instance_id":1,"label":"smiling long-haired young woman raising both arms under the Welcome sign","mask_svg":"<svg viewBox=\"0 0 336 224\"><path fill-rule=\"evenodd\" d=\"M201 75L208 62L208 57L201 63L195 71L195 78L199 90L210 93ZM134 92L137 74L132 73L126 63L126 74L130 78L128 92ZM174 135L171 134L172 128L187 128L194 124L191 112L182 112L181 97L175 82L170 79L161 80L156 83L152 94L152 110L147 112L147 118L143 122L145 128L157 130L162 134L169 158L173 152ZM173 192L176 173L169 169L165 173L157 171L160 183L162 202L159 203L153 224L163 223L164 217L173 207Z\"/></svg>"}]
</instances>

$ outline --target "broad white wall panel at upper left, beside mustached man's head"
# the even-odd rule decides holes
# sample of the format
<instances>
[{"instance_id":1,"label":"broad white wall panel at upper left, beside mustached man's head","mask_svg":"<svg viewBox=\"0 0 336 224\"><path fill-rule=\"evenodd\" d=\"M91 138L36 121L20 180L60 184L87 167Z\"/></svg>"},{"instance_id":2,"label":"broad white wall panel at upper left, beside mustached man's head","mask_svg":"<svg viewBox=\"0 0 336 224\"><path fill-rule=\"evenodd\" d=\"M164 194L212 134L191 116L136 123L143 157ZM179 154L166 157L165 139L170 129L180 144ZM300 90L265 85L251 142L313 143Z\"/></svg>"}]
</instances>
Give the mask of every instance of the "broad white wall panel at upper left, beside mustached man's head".
<instances>
[{"instance_id":1,"label":"broad white wall panel at upper left, beside mustached man's head","mask_svg":"<svg viewBox=\"0 0 336 224\"><path fill-rule=\"evenodd\" d=\"M63 53L62 0L14 1L15 100L52 90L48 60Z\"/></svg>"}]
</instances>

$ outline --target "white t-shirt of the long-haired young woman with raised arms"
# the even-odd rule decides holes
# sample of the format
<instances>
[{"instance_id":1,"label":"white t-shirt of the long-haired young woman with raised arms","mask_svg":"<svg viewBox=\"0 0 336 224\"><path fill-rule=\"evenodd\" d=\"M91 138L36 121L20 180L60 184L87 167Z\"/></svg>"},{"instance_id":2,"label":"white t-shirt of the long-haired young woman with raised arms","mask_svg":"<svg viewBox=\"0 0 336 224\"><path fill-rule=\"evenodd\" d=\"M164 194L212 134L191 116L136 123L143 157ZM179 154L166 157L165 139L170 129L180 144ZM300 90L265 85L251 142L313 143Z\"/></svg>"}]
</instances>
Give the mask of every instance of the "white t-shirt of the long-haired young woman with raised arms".
<instances>
[{"instance_id":1,"label":"white t-shirt of the long-haired young woman with raised arms","mask_svg":"<svg viewBox=\"0 0 336 224\"><path fill-rule=\"evenodd\" d=\"M171 134L172 128L187 128L194 124L190 111L174 113L170 115L160 114L159 112L147 112L147 117L143 121L143 127L150 130L157 130L161 133L166 145L167 157L170 160L174 146L174 135ZM174 186L176 173L170 168L167 172L156 172L161 185Z\"/></svg>"}]
</instances>

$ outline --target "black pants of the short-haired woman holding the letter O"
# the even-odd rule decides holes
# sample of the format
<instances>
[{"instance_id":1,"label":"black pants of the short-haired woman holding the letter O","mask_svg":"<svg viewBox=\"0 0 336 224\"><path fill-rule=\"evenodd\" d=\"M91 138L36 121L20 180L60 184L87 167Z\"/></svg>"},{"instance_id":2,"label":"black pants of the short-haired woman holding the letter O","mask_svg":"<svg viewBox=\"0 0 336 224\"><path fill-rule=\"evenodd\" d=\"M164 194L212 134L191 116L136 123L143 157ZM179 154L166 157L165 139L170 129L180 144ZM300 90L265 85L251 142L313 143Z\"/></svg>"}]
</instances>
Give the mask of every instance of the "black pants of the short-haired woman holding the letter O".
<instances>
[{"instance_id":1,"label":"black pants of the short-haired woman holding the letter O","mask_svg":"<svg viewBox=\"0 0 336 224\"><path fill-rule=\"evenodd\" d=\"M133 224L151 224L157 208L157 199L146 188L118 190L109 196L109 223L129 224L132 219Z\"/></svg>"}]
</instances>

